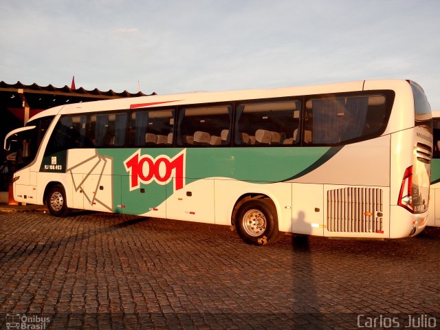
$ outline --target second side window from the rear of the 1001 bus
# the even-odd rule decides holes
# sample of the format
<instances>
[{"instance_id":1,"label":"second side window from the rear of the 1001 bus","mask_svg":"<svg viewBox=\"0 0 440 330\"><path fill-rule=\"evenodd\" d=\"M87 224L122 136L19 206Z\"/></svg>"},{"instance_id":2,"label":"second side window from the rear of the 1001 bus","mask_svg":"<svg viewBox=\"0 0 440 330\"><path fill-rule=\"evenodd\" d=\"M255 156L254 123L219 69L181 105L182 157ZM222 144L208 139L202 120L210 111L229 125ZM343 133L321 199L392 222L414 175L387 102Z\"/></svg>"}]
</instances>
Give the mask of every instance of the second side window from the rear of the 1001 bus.
<instances>
[{"instance_id":1,"label":"second side window from the rear of the 1001 bus","mask_svg":"<svg viewBox=\"0 0 440 330\"><path fill-rule=\"evenodd\" d=\"M300 101L239 104L234 143L237 145L296 144L299 141Z\"/></svg>"}]
</instances>

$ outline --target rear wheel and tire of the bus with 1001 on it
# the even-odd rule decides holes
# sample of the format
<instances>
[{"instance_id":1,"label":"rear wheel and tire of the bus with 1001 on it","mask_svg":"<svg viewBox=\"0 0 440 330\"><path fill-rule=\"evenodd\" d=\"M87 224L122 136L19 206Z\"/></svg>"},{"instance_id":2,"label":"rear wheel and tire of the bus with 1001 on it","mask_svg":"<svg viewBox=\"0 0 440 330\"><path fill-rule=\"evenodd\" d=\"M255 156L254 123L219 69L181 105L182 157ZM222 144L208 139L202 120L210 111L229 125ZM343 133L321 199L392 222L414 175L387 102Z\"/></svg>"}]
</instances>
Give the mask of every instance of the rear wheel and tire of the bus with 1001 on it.
<instances>
[{"instance_id":1,"label":"rear wheel and tire of the bus with 1001 on it","mask_svg":"<svg viewBox=\"0 0 440 330\"><path fill-rule=\"evenodd\" d=\"M279 238L278 217L272 201L251 199L236 214L236 232L246 243L265 245Z\"/></svg>"}]
</instances>

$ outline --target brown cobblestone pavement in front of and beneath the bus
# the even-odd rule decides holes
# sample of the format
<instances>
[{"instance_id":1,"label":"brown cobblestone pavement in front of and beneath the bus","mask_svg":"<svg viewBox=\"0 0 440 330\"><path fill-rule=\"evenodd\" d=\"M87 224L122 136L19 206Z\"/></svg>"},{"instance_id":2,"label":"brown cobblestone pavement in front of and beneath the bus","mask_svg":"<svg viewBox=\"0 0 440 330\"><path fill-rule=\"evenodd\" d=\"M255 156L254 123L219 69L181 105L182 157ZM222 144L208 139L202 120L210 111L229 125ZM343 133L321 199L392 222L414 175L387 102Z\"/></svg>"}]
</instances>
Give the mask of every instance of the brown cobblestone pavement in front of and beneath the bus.
<instances>
[{"instance_id":1,"label":"brown cobblestone pavement in front of and beneath the bus","mask_svg":"<svg viewBox=\"0 0 440 330\"><path fill-rule=\"evenodd\" d=\"M3 213L0 327L439 329L439 260L438 229L391 241L285 236L256 247L225 226Z\"/></svg>"}]
</instances>

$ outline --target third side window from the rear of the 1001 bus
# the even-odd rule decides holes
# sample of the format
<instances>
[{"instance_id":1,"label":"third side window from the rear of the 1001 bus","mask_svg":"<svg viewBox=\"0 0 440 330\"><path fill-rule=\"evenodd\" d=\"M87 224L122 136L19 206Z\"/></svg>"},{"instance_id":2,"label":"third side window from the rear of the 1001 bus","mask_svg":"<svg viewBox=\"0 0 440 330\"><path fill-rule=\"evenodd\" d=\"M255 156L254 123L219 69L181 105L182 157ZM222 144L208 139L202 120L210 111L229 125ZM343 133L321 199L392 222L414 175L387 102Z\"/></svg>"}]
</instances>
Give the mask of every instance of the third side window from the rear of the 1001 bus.
<instances>
[{"instance_id":1,"label":"third side window from the rear of the 1001 bus","mask_svg":"<svg viewBox=\"0 0 440 330\"><path fill-rule=\"evenodd\" d=\"M224 146L230 143L232 107L218 105L180 109L178 146Z\"/></svg>"}]
</instances>

